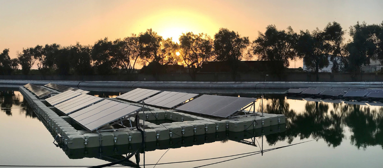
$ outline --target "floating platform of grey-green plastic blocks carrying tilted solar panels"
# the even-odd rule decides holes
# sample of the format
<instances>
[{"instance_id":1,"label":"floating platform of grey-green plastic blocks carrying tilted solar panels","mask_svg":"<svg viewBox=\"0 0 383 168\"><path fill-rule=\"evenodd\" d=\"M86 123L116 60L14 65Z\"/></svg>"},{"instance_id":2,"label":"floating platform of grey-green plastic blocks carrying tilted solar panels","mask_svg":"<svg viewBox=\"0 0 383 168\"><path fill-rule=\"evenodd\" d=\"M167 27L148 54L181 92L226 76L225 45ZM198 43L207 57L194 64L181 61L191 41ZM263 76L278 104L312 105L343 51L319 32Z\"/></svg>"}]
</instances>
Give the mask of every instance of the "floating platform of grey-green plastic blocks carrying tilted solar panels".
<instances>
[{"instance_id":1,"label":"floating platform of grey-green plastic blocks carrying tilted solar panels","mask_svg":"<svg viewBox=\"0 0 383 168\"><path fill-rule=\"evenodd\" d=\"M282 114L264 114L264 116L261 116L261 114L258 113L244 116L231 116L231 118L228 119L218 119L206 116L202 117L198 116L198 114L185 113L184 111L179 111L177 109L157 108L159 107L158 103L152 103L155 107L145 106L144 108L141 108L141 103L127 102L118 98L96 99L92 97L86 98L84 100L75 99L76 101L72 101L72 103L75 103L75 106L65 108L65 105L60 104L65 104L65 102L67 102L68 100L62 101L62 99L67 99L68 95L69 97L77 95L74 98L78 98L80 95L73 92L69 93L72 90L67 90L65 91L67 92L67 97L65 97L65 95L63 94L64 97L62 97L61 100L58 100L58 97L56 97L55 101L54 99L52 99L55 96L54 94L51 95L51 98L44 100L36 97L36 95L34 95L30 90L28 90L25 87L19 87L19 90L21 94L25 97L29 105L34 109L36 114L38 114L38 117L41 119L41 121L43 121L43 123L46 125L47 129L50 130L56 137L57 142L64 144L67 148L70 149L112 146L121 147L121 145L126 146L129 144L130 145L128 149L135 148L139 146L138 144L141 144L142 142L141 132L131 127L120 128L120 126L133 126L136 123L139 124L139 126L142 129L144 129L145 143L148 143L145 150L169 148L169 144L174 143L173 139L185 139L184 145L186 146L203 144L205 142L214 142L216 140L224 140L226 138L240 141L243 139L250 139L252 137L260 135L283 132L285 131L286 127L286 118ZM57 93L60 92L57 91ZM158 92L156 92L155 94L158 94ZM84 96L84 98L85 97L88 96ZM195 95L187 95L186 97L189 98L186 101L190 101L190 99L194 98ZM132 100L136 101L137 99L141 98L142 97L137 96L137 98L134 98ZM152 99L153 101L155 101L155 99L158 98L159 97ZM144 99L147 98L142 98L142 100ZM248 99L246 100L247 103L249 101ZM250 100L249 102L251 101L252 100ZM50 104L49 102L55 105L52 106L52 104ZM88 102L88 104L86 102ZM91 110L88 110L88 108L100 109L99 107L102 105L101 102L103 102L104 104L119 104L119 108L109 109L108 111L113 111L113 113L108 114L101 113L102 110L99 110L95 113L93 113ZM193 102L193 100L191 100L190 102ZM169 104L169 106L167 107L182 107L182 104L184 103L176 103L178 106L175 106L174 104L175 103ZM115 106L117 105L113 105L113 107ZM117 112L121 111L120 109L128 108L129 106L131 106L132 108L129 108L129 110L125 110L126 116L110 117L109 114L117 114ZM237 109L233 111L237 113L236 110ZM114 111L116 111L116 113ZM245 114L248 113L250 112L245 112ZM87 122L81 122L84 120L77 118L82 114L88 115L83 117L89 119L87 120ZM121 114L125 115L125 113ZM225 115L226 114L229 113L225 113ZM95 115L100 116L93 117L93 119L92 116ZM139 121L135 121L135 118L133 116L136 115L139 116ZM102 119L102 122L99 122L100 119ZM160 120L169 121L171 123L157 125L156 123L158 123L158 121ZM118 123L118 125L112 125L111 123ZM77 129L75 129L75 127ZM252 135L251 137L249 137L249 133ZM203 139L201 138L202 136L204 137ZM191 139L190 143L186 143L189 139ZM154 145L149 144L163 145L155 145L154 147ZM129 150L126 151L129 152Z\"/></svg>"}]
</instances>

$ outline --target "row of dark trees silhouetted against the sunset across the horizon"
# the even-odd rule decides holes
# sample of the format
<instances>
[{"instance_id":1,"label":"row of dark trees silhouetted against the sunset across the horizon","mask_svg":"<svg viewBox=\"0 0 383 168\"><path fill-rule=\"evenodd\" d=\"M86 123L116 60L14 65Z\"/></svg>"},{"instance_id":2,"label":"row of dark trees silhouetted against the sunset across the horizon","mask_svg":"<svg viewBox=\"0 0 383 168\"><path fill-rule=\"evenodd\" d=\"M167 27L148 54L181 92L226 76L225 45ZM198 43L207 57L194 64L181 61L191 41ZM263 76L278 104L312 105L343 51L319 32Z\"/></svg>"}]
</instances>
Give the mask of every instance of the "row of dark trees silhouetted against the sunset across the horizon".
<instances>
[{"instance_id":1,"label":"row of dark trees silhouetted against the sunset across the horizon","mask_svg":"<svg viewBox=\"0 0 383 168\"><path fill-rule=\"evenodd\" d=\"M300 32L294 32L290 26L279 30L268 25L265 33L259 32L252 42L238 32L221 28L213 38L204 33L183 33L178 43L147 29L115 41L100 39L92 46L77 42L71 46L46 44L23 48L16 59L10 59L9 49L4 49L0 54L0 74L19 71L28 75L33 65L37 65L43 75L108 75L133 73L140 64L142 72L153 75L163 73L164 65L183 65L195 78L203 62L223 61L228 63L235 79L239 62L253 58L283 61L285 67L291 60L303 59L307 68L317 74L329 61L334 65L333 72L344 69L353 73L370 64L371 59L383 62L383 22L357 22L350 26L351 39L347 42L345 33L337 22L328 23L323 30Z\"/></svg>"}]
</instances>

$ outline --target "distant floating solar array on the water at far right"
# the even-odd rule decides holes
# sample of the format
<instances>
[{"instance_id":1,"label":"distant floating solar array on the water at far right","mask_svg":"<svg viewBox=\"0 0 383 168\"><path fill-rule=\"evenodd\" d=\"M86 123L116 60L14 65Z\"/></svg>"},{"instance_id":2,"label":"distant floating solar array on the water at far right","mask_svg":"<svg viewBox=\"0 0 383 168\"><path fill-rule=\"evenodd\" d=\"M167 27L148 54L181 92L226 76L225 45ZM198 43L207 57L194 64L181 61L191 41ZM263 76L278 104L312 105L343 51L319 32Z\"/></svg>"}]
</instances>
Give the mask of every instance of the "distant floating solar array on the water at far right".
<instances>
[{"instance_id":1,"label":"distant floating solar array on the water at far right","mask_svg":"<svg viewBox=\"0 0 383 168\"><path fill-rule=\"evenodd\" d=\"M343 97L369 97L383 98L382 89L357 89L357 88L299 88L289 89L286 93L306 95L343 96Z\"/></svg>"}]
</instances>

